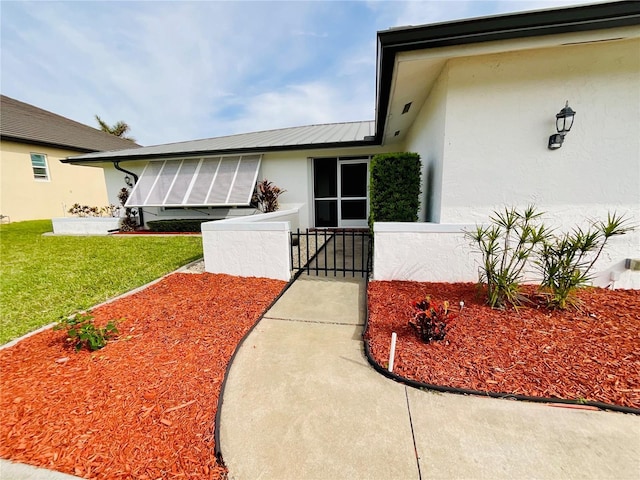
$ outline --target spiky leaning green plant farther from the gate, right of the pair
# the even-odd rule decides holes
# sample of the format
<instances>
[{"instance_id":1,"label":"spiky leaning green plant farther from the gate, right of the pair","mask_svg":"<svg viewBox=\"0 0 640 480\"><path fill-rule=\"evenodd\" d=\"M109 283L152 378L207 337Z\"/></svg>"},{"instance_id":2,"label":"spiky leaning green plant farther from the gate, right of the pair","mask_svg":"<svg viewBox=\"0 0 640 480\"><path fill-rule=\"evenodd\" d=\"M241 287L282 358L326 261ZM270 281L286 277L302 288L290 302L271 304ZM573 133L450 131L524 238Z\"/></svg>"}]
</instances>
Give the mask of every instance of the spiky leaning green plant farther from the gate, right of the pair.
<instances>
[{"instance_id":1,"label":"spiky leaning green plant farther from the gate, right of the pair","mask_svg":"<svg viewBox=\"0 0 640 480\"><path fill-rule=\"evenodd\" d=\"M551 308L580 306L578 288L587 285L590 271L609 238L633 230L623 216L607 214L607 221L595 222L588 230L577 227L571 232L547 238L537 262L542 274L540 284Z\"/></svg>"}]
</instances>

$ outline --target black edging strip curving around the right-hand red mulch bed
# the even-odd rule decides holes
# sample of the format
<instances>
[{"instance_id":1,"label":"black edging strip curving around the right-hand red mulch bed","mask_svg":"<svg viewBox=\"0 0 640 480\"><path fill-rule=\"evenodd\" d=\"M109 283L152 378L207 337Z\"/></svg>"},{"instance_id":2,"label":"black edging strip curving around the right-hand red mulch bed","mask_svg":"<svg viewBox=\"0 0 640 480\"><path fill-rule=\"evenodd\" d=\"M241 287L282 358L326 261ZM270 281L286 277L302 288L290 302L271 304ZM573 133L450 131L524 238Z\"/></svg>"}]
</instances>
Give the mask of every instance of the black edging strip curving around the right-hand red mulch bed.
<instances>
[{"instance_id":1,"label":"black edging strip curving around the right-hand red mulch bed","mask_svg":"<svg viewBox=\"0 0 640 480\"><path fill-rule=\"evenodd\" d=\"M614 412L621 413L631 413L633 415L640 415L639 408L632 407L624 407L622 405L613 405L610 403L604 402L580 402L578 400L568 400L565 398L547 398L547 397L530 397L527 395L519 395L514 393L500 393L500 392L484 392L482 390L471 390L467 388L456 388L456 387L446 387L442 385L433 385L430 383L423 383L417 380L412 380L410 378L403 377L396 373L390 372L378 362L375 361L373 356L371 355L371 348L369 347L369 340L367 340L366 335L369 330L369 280L367 279L367 295L365 300L365 319L364 319L364 329L362 330L362 341L364 343L364 355L367 357L367 361L376 370L378 373L381 373L387 378L394 380L398 383L403 383L413 388L418 389L426 389L426 390L435 390L437 392L444 393L456 393L459 395L476 395L481 397L491 397L491 398L502 398L502 399L513 399L513 400L521 400L526 402L536 402L536 403L561 403L567 405L580 405L580 406L589 406L596 407L600 410L611 410Z\"/></svg>"}]
</instances>

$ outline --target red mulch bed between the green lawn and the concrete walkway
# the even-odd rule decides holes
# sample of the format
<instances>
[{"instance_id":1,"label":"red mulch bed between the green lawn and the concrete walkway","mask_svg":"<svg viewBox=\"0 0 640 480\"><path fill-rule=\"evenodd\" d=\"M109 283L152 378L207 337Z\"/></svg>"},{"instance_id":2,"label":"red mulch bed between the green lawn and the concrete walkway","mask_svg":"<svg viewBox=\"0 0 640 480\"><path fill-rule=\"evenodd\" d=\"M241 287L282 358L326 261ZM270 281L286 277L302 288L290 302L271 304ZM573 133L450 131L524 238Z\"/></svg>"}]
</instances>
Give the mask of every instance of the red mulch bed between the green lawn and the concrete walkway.
<instances>
[{"instance_id":1,"label":"red mulch bed between the green lawn and the concrete walkway","mask_svg":"<svg viewBox=\"0 0 640 480\"><path fill-rule=\"evenodd\" d=\"M225 369L284 285L174 274L93 311L96 324L124 319L102 350L75 353L48 330L0 351L0 457L85 478L226 477L214 455Z\"/></svg>"}]
</instances>

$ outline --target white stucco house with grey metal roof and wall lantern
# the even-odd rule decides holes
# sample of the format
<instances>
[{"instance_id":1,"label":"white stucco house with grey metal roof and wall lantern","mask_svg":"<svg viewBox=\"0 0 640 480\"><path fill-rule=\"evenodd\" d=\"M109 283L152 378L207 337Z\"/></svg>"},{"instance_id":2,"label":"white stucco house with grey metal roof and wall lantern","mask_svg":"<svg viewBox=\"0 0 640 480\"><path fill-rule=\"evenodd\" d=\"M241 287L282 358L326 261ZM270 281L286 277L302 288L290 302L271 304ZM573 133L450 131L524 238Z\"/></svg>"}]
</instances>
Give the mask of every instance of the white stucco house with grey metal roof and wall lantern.
<instances>
[{"instance_id":1,"label":"white stucco house with grey metal roof and wall lantern","mask_svg":"<svg viewBox=\"0 0 640 480\"><path fill-rule=\"evenodd\" d=\"M640 224L640 3L393 28L377 38L372 121L63 162L102 166L110 198L124 185L121 169L140 176L130 202L143 207L147 220L245 215L255 181L268 178L286 190L282 208L299 209L300 227L365 227L370 157L417 152L425 223L376 227L374 279L468 276L444 257L437 266L429 248L420 258L416 232L430 232L438 251L441 235L486 222L504 206L536 204L560 228L608 211ZM577 112L573 127L561 148L550 149L556 114L567 101ZM400 238L411 252L387 245L387 237ZM388 267L379 255L393 257ZM622 267L639 257L637 234L612 242L603 282L615 277L640 288L636 272Z\"/></svg>"}]
</instances>

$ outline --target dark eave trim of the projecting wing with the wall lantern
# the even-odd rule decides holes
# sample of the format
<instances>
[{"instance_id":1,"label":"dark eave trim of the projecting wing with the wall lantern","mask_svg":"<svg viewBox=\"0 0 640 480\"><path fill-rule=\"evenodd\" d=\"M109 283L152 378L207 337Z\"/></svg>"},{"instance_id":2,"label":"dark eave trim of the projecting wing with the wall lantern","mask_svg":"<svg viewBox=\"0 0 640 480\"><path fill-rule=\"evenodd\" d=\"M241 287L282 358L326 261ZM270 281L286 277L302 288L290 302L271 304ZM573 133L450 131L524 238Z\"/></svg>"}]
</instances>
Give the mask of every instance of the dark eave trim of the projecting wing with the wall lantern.
<instances>
[{"instance_id":1,"label":"dark eave trim of the projecting wing with the wall lantern","mask_svg":"<svg viewBox=\"0 0 640 480\"><path fill-rule=\"evenodd\" d=\"M375 139L381 144L399 52L640 24L640 2L539 10L378 32Z\"/></svg>"}]
</instances>

